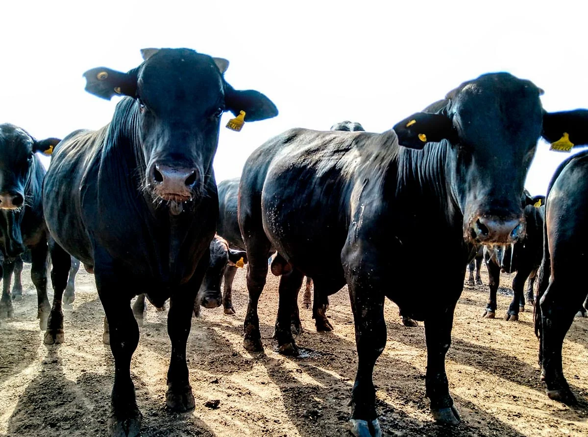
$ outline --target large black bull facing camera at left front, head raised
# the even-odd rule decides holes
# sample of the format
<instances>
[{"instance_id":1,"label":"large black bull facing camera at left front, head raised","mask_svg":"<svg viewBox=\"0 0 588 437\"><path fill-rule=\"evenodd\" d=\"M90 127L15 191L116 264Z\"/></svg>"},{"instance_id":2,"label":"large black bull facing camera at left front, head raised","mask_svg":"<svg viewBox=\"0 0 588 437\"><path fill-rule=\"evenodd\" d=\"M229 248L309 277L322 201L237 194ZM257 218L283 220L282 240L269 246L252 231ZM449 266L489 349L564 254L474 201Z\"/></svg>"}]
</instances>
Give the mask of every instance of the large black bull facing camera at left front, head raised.
<instances>
[{"instance_id":1,"label":"large black bull facing camera at left front, head raised","mask_svg":"<svg viewBox=\"0 0 588 437\"><path fill-rule=\"evenodd\" d=\"M130 373L139 341L130 301L139 292L158 307L171 299L166 404L194 408L186 341L218 216L212 161L220 116L244 111L250 122L278 113L266 96L225 82L225 59L190 49L143 49L142 55L144 62L127 73L99 67L84 74L88 92L126 97L111 123L59 144L43 190L57 243L51 247L55 294L65 289L71 253L95 274L108 320L115 359L111 436L135 436L140 428ZM45 341L58 341L59 330L61 308L54 308Z\"/></svg>"}]
</instances>

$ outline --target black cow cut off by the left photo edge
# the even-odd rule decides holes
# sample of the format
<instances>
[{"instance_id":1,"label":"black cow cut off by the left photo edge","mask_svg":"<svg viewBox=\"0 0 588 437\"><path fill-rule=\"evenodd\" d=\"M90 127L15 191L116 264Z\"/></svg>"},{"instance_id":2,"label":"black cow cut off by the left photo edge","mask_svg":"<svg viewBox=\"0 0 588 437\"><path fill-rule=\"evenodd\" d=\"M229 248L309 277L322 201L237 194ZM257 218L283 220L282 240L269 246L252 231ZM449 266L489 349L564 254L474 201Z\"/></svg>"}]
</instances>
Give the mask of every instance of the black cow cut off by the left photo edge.
<instances>
[{"instance_id":1,"label":"black cow cut off by the left photo edge","mask_svg":"<svg viewBox=\"0 0 588 437\"><path fill-rule=\"evenodd\" d=\"M47 228L41 204L45 167L35 153L49 155L57 143L55 138L37 141L24 129L9 123L0 125L0 250L4 258L0 318L13 315L12 273L15 262L30 250L31 280L37 291L41 330L47 328L51 305L47 298Z\"/></svg>"}]
</instances>

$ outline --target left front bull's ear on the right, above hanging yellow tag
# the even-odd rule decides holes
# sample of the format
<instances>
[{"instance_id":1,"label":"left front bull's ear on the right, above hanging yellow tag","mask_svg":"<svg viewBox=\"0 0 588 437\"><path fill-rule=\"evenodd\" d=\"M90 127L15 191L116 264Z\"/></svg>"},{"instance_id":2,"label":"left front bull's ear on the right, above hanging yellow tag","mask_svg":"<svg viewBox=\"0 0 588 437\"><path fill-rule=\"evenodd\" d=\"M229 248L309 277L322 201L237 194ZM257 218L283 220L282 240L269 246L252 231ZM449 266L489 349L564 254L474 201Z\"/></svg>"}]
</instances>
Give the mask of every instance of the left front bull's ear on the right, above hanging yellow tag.
<instances>
[{"instance_id":1,"label":"left front bull's ear on the right, above hanging yellow tag","mask_svg":"<svg viewBox=\"0 0 588 437\"><path fill-rule=\"evenodd\" d=\"M278 108L259 91L248 89L239 91L225 82L225 107L226 110L238 116L245 111L246 122L256 122L278 115Z\"/></svg>"}]
</instances>

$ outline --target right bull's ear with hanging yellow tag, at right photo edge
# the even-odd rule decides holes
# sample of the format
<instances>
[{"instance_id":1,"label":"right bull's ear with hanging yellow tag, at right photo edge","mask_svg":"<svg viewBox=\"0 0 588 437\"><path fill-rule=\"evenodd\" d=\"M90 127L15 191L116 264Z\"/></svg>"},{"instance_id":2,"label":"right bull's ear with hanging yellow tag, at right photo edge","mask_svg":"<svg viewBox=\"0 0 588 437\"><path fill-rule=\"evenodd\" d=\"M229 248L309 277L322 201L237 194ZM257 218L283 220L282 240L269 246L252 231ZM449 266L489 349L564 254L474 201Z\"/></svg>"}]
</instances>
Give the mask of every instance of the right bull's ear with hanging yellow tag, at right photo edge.
<instances>
[{"instance_id":1,"label":"right bull's ear with hanging yellow tag, at right photo edge","mask_svg":"<svg viewBox=\"0 0 588 437\"><path fill-rule=\"evenodd\" d=\"M544 111L541 136L551 144L551 150L558 152L570 152L572 147L588 145L588 109Z\"/></svg>"}]
</instances>

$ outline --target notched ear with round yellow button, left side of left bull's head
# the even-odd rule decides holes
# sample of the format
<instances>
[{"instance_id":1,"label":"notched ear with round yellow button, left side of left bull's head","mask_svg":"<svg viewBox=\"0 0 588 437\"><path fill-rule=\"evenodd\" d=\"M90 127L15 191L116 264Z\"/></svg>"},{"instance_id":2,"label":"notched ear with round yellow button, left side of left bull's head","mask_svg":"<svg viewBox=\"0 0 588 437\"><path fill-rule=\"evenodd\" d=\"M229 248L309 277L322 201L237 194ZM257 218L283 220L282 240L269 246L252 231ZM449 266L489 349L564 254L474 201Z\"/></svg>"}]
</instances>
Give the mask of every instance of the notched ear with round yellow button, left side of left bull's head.
<instances>
[{"instance_id":1,"label":"notched ear with round yellow button, left side of left bull's head","mask_svg":"<svg viewBox=\"0 0 588 437\"><path fill-rule=\"evenodd\" d=\"M83 73L86 78L86 91L106 100L116 95L135 97L137 76L133 71L123 73L106 67L92 68Z\"/></svg>"}]
</instances>

